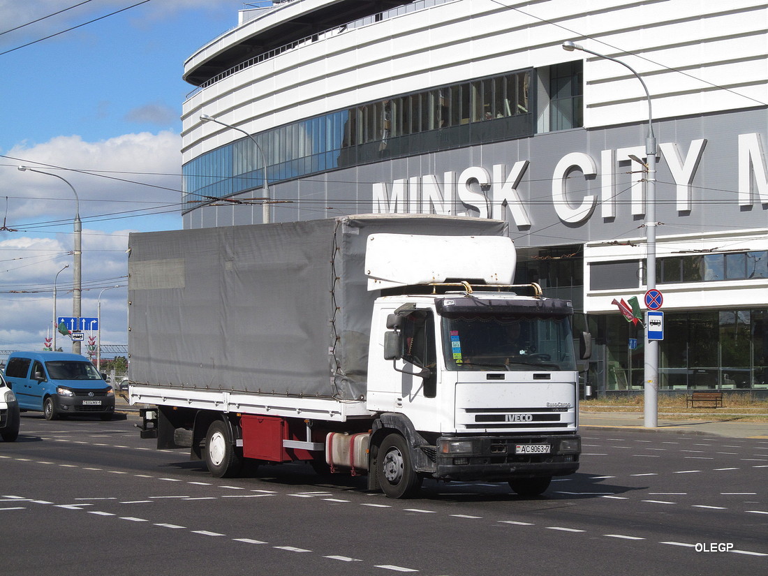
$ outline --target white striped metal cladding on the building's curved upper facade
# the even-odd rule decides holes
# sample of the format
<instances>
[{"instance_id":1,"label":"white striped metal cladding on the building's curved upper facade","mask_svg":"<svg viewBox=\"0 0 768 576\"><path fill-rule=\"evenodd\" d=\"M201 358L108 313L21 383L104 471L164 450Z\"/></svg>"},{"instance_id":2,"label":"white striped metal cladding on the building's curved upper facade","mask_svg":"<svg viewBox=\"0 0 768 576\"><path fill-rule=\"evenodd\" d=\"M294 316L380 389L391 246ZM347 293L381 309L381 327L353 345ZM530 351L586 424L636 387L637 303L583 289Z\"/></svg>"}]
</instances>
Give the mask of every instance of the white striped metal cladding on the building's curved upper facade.
<instances>
[{"instance_id":1,"label":"white striped metal cladding on the building's curved upper facade","mask_svg":"<svg viewBox=\"0 0 768 576\"><path fill-rule=\"evenodd\" d=\"M202 127L201 113L256 133L393 94L585 57L585 125L647 120L633 74L566 52L564 40L633 66L652 94L654 118L753 107L768 101L766 18L766 3L753 0L439 5L286 52L195 94L184 104L184 162L240 137L224 131L207 141L222 127Z\"/></svg>"}]
</instances>

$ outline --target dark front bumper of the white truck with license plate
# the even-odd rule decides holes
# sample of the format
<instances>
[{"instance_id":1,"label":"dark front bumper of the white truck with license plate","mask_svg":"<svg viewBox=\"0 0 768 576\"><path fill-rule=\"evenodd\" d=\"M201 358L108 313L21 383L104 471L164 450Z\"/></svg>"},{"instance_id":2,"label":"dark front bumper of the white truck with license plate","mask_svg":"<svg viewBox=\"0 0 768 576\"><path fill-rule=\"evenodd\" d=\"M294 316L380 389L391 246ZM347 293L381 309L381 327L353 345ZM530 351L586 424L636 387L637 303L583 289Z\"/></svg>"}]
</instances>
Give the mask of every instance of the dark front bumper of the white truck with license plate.
<instances>
[{"instance_id":1,"label":"dark front bumper of the white truck with license plate","mask_svg":"<svg viewBox=\"0 0 768 576\"><path fill-rule=\"evenodd\" d=\"M578 435L443 437L437 442L434 477L506 482L562 476L578 470L580 454Z\"/></svg>"}]
</instances>

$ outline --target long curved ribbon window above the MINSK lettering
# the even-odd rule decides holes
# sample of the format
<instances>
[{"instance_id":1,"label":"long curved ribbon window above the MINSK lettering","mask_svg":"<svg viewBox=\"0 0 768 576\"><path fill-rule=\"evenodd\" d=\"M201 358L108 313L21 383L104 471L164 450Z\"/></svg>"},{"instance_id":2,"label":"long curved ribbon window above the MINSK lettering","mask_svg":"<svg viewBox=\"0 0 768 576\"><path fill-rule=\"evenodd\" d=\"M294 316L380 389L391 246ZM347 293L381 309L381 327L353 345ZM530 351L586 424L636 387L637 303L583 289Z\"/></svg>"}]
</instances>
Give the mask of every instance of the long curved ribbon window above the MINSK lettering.
<instances>
[{"instance_id":1,"label":"long curved ribbon window above the MINSK lettering","mask_svg":"<svg viewBox=\"0 0 768 576\"><path fill-rule=\"evenodd\" d=\"M273 184L385 158L531 136L532 75L515 71L403 94L253 137L268 156ZM263 185L263 161L250 137L202 154L182 170L185 210L199 207L200 196L229 196Z\"/></svg>"}]
</instances>

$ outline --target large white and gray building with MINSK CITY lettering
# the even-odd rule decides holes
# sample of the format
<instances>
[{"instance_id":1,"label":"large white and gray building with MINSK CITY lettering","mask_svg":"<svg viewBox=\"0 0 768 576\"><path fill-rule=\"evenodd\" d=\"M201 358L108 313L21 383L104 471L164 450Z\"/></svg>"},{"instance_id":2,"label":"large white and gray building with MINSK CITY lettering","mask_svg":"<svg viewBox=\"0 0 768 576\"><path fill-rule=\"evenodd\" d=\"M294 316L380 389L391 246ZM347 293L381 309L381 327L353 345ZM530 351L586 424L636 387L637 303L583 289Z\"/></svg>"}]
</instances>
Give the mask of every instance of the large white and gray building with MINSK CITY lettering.
<instances>
[{"instance_id":1,"label":"large white and gray building with MINSK CITY lettering","mask_svg":"<svg viewBox=\"0 0 768 576\"><path fill-rule=\"evenodd\" d=\"M254 2L185 63L184 227L507 220L518 280L588 315L593 393L641 391L643 330L614 300L647 290L650 119L660 392L768 395L766 18L750 0Z\"/></svg>"}]
</instances>

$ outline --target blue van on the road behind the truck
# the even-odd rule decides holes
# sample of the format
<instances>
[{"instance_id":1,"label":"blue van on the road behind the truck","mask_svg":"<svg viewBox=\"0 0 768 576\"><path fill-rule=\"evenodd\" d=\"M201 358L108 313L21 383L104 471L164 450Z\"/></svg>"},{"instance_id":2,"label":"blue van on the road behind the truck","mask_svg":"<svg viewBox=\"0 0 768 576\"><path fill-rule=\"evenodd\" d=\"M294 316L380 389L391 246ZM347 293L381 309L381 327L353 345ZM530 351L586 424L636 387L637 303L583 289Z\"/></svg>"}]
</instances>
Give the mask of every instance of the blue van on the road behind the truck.
<instances>
[{"instance_id":1,"label":"blue van on the road behind the truck","mask_svg":"<svg viewBox=\"0 0 768 576\"><path fill-rule=\"evenodd\" d=\"M5 365L5 382L22 410L45 419L67 415L114 414L114 392L85 356L65 352L15 352Z\"/></svg>"}]
</instances>

